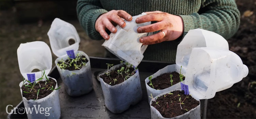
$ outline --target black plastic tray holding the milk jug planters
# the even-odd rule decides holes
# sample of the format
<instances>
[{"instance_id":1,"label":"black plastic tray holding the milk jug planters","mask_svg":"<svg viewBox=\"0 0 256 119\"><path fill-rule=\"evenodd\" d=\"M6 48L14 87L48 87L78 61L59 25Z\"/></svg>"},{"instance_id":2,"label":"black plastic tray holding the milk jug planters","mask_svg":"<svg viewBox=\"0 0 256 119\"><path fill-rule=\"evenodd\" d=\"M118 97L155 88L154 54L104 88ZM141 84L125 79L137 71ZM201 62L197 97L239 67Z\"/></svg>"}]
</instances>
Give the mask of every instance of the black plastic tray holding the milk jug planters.
<instances>
[{"instance_id":1,"label":"black plastic tray holding the milk jug planters","mask_svg":"<svg viewBox=\"0 0 256 119\"><path fill-rule=\"evenodd\" d=\"M168 62L153 62L142 61L139 68L139 75L142 88L142 100L136 104L131 105L128 110L120 114L111 113L104 104L104 96L101 89L100 82L97 80L99 72L106 70L106 63L119 64L118 59L90 57L91 72L93 76L93 90L86 95L79 97L70 97L65 91L64 84L60 79L59 72L56 67L48 74L50 77L57 80L58 85L62 88L59 90L59 100L61 108L60 118L151 118L150 105L147 102L147 92L145 86L145 79L158 71L159 69L174 63ZM127 97L127 98L132 98ZM201 102L201 117L206 118L207 100L200 100ZM24 107L23 101L17 106L17 109ZM27 118L25 114L9 114L8 119Z\"/></svg>"}]
</instances>

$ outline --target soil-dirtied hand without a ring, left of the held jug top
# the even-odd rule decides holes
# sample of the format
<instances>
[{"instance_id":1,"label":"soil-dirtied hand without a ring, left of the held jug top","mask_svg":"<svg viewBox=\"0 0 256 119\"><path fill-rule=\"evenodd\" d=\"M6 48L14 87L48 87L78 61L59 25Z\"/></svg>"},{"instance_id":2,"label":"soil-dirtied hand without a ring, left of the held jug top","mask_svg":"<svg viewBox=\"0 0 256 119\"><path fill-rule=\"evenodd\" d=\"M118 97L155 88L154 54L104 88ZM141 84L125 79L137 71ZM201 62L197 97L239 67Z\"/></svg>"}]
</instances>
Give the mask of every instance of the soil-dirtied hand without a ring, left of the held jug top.
<instances>
[{"instance_id":1,"label":"soil-dirtied hand without a ring, left of the held jug top","mask_svg":"<svg viewBox=\"0 0 256 119\"><path fill-rule=\"evenodd\" d=\"M108 29L112 33L116 33L116 24L120 27L125 27L125 21L132 20L132 16L123 10L112 10L107 13L100 15L100 17L95 22L95 29L100 35L105 39L109 39L109 35L106 33L106 29Z\"/></svg>"}]
</instances>

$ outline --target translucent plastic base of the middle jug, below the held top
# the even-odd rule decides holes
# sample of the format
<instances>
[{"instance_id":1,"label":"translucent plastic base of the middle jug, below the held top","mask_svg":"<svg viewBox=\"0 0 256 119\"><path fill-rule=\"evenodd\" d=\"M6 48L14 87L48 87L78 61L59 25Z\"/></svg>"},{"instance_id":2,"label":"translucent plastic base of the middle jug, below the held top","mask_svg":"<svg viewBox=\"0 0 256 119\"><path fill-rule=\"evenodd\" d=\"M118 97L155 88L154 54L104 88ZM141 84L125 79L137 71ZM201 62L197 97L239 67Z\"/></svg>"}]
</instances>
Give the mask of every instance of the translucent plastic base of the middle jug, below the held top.
<instances>
[{"instance_id":1,"label":"translucent plastic base of the middle jug, below the held top","mask_svg":"<svg viewBox=\"0 0 256 119\"><path fill-rule=\"evenodd\" d=\"M120 65L121 64L115 65L110 70L119 68ZM112 113L122 113L127 110L130 105L137 104L142 98L139 70L137 70L132 77L120 84L111 86L105 83L102 78L100 78L100 84L105 105Z\"/></svg>"}]
</instances>

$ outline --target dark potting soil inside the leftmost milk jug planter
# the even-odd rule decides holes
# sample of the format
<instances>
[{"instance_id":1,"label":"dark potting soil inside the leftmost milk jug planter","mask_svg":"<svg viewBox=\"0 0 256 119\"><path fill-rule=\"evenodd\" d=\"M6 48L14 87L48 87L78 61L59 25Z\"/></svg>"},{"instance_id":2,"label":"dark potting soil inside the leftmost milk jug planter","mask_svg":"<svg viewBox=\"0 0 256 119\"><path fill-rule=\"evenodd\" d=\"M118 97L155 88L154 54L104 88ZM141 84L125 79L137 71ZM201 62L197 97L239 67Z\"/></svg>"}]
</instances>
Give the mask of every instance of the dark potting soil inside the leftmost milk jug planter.
<instances>
[{"instance_id":1,"label":"dark potting soil inside the leftmost milk jug planter","mask_svg":"<svg viewBox=\"0 0 256 119\"><path fill-rule=\"evenodd\" d=\"M52 87L52 86L55 88L55 86L56 86L56 82L52 78L49 78L49 80L50 80L50 82L46 83L46 85L45 85L45 81L39 81L38 83L40 85L39 84L35 84L34 87L33 87L33 89L35 89L35 90L32 89L31 93L23 92L23 91L30 92L30 89L31 89L31 88L27 87L29 89L28 90L28 89L25 88L25 85L23 85L22 86L22 95L23 95L23 97L25 97L27 100L30 100L30 99L35 100L35 99L37 99L37 91L38 91L38 89L40 89L40 86L41 87L45 87L45 88L44 89L41 88L39 90L38 99L41 99L41 98L44 98L44 97L48 96L49 94L51 94L53 92L53 90L50 90L51 88L50 89L48 89L48 88Z\"/></svg>"}]
</instances>

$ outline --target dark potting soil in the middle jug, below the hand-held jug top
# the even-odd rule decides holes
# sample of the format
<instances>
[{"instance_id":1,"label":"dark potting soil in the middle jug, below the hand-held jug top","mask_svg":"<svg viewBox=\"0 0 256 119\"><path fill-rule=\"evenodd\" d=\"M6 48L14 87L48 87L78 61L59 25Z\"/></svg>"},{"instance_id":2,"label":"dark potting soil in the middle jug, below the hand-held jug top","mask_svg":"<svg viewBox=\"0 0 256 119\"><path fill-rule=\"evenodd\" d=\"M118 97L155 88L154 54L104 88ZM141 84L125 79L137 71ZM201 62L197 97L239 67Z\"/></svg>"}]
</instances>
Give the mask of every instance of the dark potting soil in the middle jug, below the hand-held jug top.
<instances>
[{"instance_id":1,"label":"dark potting soil in the middle jug, below the hand-held jug top","mask_svg":"<svg viewBox=\"0 0 256 119\"><path fill-rule=\"evenodd\" d=\"M113 72L113 71L110 72L110 77L111 77L111 79L110 79L110 77L109 77L108 75L106 75L106 74L101 75L100 78L102 78L105 83L107 83L107 84L109 84L109 85L111 85L111 86L114 86L114 85L117 85L117 84L120 84L120 83L124 82L124 78L125 78L125 76L126 76L127 74L125 74L125 73L123 72L123 73L122 73L123 77L122 77L121 74L119 74L119 76L118 76L118 73L117 73L117 70L120 70L121 67L124 67L124 68L126 69L126 66L125 66L125 65L121 65L119 68L116 68L116 69L114 70L114 72ZM127 69L128 69L128 68L127 68ZM129 70L130 70L129 72L130 72L130 74L131 74L132 71L134 71L134 68L133 68L133 67L130 67ZM134 72L134 73L135 73L135 72ZM132 75L133 75L133 74L132 74ZM132 75L129 75L129 76L132 76ZM117 81L114 82L113 79L117 79ZM129 78L127 78L127 79L129 79ZM111 82L111 84L110 84L110 82Z\"/></svg>"}]
</instances>

